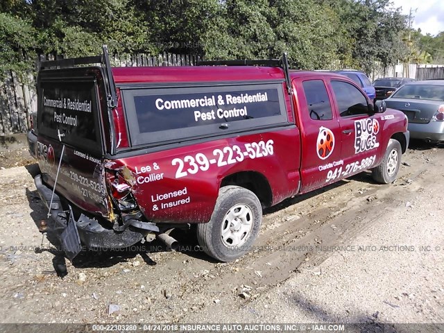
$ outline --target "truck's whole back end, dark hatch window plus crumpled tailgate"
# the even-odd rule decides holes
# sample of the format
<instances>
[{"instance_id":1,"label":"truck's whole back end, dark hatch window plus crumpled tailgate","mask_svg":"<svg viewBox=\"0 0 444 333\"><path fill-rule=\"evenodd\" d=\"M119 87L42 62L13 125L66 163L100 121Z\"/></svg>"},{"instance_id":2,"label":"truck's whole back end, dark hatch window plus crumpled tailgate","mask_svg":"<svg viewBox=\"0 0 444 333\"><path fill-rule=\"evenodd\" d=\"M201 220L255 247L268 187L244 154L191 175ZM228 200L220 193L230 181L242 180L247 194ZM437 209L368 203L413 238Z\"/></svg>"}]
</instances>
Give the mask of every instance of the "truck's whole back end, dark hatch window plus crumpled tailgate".
<instances>
[{"instance_id":1,"label":"truck's whole back end, dark hatch window plus crumpled tailgate","mask_svg":"<svg viewBox=\"0 0 444 333\"><path fill-rule=\"evenodd\" d=\"M53 187L58 173L60 196L87 212L108 217L103 171L103 119L108 110L101 69L41 71L37 89L36 151L42 180Z\"/></svg>"}]
</instances>

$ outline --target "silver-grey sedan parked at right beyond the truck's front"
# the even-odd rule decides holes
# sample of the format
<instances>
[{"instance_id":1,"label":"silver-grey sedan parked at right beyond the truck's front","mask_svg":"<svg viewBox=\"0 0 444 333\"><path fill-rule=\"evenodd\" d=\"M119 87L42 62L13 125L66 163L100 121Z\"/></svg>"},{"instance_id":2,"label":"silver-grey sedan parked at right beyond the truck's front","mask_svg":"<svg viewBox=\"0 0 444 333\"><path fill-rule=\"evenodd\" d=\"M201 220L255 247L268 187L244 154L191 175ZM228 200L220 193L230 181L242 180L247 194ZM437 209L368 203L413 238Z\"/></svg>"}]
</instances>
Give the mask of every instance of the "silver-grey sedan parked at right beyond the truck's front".
<instances>
[{"instance_id":1,"label":"silver-grey sedan parked at right beyond the truck's front","mask_svg":"<svg viewBox=\"0 0 444 333\"><path fill-rule=\"evenodd\" d=\"M444 141L444 80L407 83L385 101L387 108L407 115L411 137Z\"/></svg>"}]
</instances>

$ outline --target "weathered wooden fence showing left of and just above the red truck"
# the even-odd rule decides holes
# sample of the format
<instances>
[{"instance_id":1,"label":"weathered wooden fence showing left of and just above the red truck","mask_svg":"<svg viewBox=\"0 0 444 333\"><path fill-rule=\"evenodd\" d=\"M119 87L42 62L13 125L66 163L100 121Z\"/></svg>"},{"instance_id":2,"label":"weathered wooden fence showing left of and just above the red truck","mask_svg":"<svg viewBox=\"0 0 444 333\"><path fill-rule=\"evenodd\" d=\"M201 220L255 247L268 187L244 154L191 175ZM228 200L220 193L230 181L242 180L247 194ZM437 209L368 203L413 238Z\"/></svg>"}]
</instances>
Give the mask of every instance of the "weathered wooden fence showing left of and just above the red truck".
<instances>
[{"instance_id":1,"label":"weathered wooden fence showing left of and just above the red truck","mask_svg":"<svg viewBox=\"0 0 444 333\"><path fill-rule=\"evenodd\" d=\"M126 58L114 57L112 66L194 66L200 60L196 55L161 53L158 56L137 54ZM26 133L30 128L29 117L37 110L37 92L35 78L29 83L21 83L17 76L10 72L4 82L0 81L0 136Z\"/></svg>"}]
</instances>

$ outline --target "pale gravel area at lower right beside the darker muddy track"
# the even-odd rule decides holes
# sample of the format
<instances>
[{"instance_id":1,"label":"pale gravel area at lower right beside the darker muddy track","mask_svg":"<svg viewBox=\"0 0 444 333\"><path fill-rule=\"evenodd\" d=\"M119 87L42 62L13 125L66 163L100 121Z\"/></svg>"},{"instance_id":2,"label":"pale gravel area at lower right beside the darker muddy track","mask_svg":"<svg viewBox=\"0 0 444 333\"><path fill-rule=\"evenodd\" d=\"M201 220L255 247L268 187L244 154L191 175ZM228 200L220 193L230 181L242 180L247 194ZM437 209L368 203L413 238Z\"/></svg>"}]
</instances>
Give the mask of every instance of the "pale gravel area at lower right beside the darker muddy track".
<instances>
[{"instance_id":1,"label":"pale gravel area at lower right beside the darker muddy track","mask_svg":"<svg viewBox=\"0 0 444 333\"><path fill-rule=\"evenodd\" d=\"M409 196L382 207L383 216L358 237L328 249L332 255L322 264L300 266L243 311L221 307L208 319L443 323L443 175L439 176L441 182L427 188L412 184Z\"/></svg>"}]
</instances>

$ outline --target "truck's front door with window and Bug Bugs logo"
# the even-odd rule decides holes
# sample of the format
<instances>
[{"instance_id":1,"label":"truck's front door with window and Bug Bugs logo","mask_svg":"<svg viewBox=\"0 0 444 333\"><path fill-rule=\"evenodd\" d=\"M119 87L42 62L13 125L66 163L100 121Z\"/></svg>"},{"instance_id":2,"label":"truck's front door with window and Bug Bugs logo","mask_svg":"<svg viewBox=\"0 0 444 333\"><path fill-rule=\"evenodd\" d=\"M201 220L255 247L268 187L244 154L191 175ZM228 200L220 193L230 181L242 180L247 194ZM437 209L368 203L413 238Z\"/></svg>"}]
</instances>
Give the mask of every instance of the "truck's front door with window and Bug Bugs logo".
<instances>
[{"instance_id":1,"label":"truck's front door with window and Bug Bugs logo","mask_svg":"<svg viewBox=\"0 0 444 333\"><path fill-rule=\"evenodd\" d=\"M344 166L341 177L368 169L377 159L382 130L366 95L360 89L334 79L330 81L341 126L341 155Z\"/></svg>"}]
</instances>

